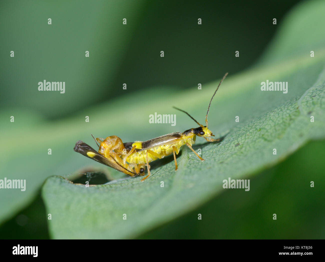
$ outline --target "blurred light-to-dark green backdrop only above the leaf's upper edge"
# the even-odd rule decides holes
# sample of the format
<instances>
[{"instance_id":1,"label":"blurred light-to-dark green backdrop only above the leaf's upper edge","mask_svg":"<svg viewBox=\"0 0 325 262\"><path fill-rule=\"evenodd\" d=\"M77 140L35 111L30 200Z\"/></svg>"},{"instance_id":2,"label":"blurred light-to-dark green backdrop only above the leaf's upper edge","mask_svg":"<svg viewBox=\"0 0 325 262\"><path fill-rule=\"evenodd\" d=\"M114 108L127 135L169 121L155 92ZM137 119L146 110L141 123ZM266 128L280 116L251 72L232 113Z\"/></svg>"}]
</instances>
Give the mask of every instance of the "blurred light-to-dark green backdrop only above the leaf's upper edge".
<instances>
[{"instance_id":1,"label":"blurred light-to-dark green backdrop only above the leaf's upper edge","mask_svg":"<svg viewBox=\"0 0 325 262\"><path fill-rule=\"evenodd\" d=\"M297 2L1 1L1 108L61 119L140 89L234 75L260 57ZM65 94L38 91L44 79L65 81Z\"/></svg>"}]
</instances>

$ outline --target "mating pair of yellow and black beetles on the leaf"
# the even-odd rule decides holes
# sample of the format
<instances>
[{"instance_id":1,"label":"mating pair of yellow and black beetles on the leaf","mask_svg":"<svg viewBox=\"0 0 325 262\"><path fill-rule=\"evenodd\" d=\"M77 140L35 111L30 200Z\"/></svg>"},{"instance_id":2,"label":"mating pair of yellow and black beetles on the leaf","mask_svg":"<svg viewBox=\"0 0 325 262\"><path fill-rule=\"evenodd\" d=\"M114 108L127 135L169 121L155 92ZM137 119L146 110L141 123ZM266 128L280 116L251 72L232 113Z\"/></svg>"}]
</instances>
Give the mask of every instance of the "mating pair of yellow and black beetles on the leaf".
<instances>
[{"instance_id":1,"label":"mating pair of yellow and black beetles on the leaf","mask_svg":"<svg viewBox=\"0 0 325 262\"><path fill-rule=\"evenodd\" d=\"M202 159L192 148L196 136L203 137L208 142L219 142L221 139L212 139L212 131L208 129L208 114L211 105L211 101L221 85L222 81L225 79L228 73L221 79L217 89L214 91L214 94L210 100L208 110L205 116L206 126L201 125L193 117L191 117L187 112L174 107L175 109L186 113L190 118L192 118L199 127L191 128L184 132L175 132L160 137L150 139L145 142L129 142L123 143L121 138L113 135L109 136L106 139L94 138L99 149L96 151L91 146L87 145L83 141L79 140L74 146L73 150L88 157L94 159L104 165L112 167L120 172L123 172L130 176L135 175L144 175L145 167L148 168L148 175L141 179L144 181L150 176L150 166L149 163L156 159L161 159L165 156L171 154L174 155L175 160L175 171L177 170L176 155L179 153L179 149L183 145L187 145L195 155L203 161ZM99 144L98 144L99 143Z\"/></svg>"}]
</instances>

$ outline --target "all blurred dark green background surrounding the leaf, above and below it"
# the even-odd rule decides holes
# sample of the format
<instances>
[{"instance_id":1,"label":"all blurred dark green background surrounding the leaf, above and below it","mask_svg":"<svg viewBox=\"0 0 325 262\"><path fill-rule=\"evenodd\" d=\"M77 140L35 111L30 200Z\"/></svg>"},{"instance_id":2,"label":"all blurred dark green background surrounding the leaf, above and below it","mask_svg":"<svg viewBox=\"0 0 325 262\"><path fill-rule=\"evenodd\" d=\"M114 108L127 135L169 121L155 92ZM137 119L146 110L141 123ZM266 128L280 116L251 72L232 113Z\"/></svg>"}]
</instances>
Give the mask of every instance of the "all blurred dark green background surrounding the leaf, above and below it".
<instances>
[{"instance_id":1,"label":"all blurred dark green background surrounding the leaf, above and below it","mask_svg":"<svg viewBox=\"0 0 325 262\"><path fill-rule=\"evenodd\" d=\"M273 1L262 6L260 1L204 5L197 1L2 1L1 120L15 115L24 122L23 128L15 131L17 139L23 141L29 139L24 136L29 128L40 123L53 128L56 121L69 120L98 103L116 103L125 94L132 96L148 89L159 97L169 89L186 90L198 83L210 83L225 72L235 75L259 61L284 15L298 2ZM52 19L51 25L47 24L48 18ZM123 18L127 25L122 24ZM197 24L198 18L202 25ZM272 24L273 18L277 18L278 25ZM11 50L14 58L10 58ZM86 50L89 58L85 57ZM161 50L164 58L160 57ZM235 58L236 50L240 58ZM39 92L37 83L44 79L65 81L66 93ZM123 83L127 83L127 90L122 89ZM146 101L135 103L141 106ZM171 106L166 102L166 107ZM117 112L118 107L113 113ZM2 126L4 137L13 132ZM92 127L95 132L99 128ZM58 136L65 135L61 129L57 132ZM323 238L324 201L318 196L325 181L318 181L314 191L302 183L313 180L306 173L317 177L324 174L323 159L312 154L324 152L324 147L324 142L311 142L252 178L251 185L259 186L251 186L250 194L223 193L139 238ZM2 159L2 166L5 161ZM23 154L17 161L30 172ZM302 165L303 161L310 165ZM76 170L67 163L60 167L55 164L47 168L48 175ZM275 181L282 181L282 186L276 187ZM35 187L40 187L43 181L37 183ZM294 189L288 190L291 186ZM302 195L314 201L306 202ZM273 228L266 226L270 218L263 217L262 211L283 201L288 204L283 212L292 214L292 221L279 221ZM319 210L319 216L311 212L315 210ZM220 217L220 212L224 216ZM200 224L198 213L207 217ZM38 194L27 198L3 218L0 238L49 238L45 214Z\"/></svg>"}]
</instances>

